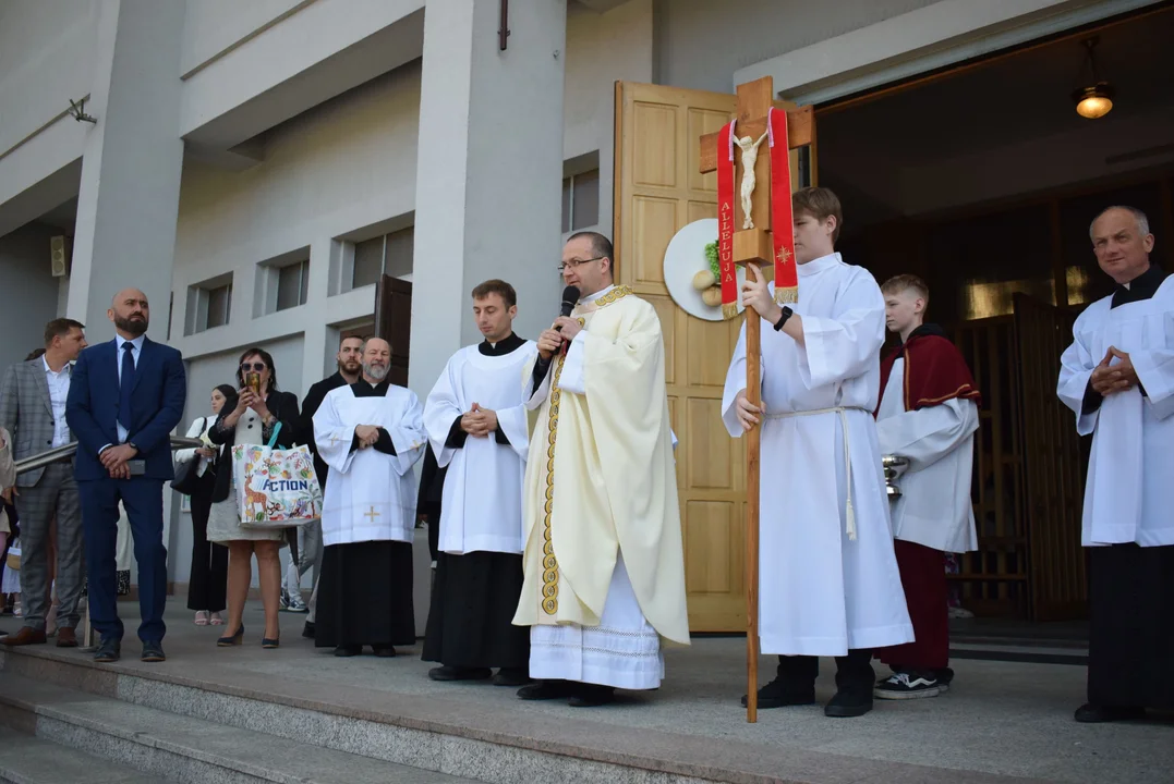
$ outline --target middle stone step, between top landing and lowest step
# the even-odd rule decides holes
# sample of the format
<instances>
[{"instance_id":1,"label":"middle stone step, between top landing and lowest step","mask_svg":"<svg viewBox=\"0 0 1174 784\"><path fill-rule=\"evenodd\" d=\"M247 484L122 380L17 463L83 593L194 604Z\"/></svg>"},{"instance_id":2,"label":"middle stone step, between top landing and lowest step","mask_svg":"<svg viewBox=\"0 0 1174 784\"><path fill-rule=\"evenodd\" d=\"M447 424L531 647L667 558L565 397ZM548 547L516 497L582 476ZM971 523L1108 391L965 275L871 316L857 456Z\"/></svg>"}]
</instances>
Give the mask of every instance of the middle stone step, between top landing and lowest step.
<instances>
[{"instance_id":1,"label":"middle stone step, between top landing and lowest step","mask_svg":"<svg viewBox=\"0 0 1174 784\"><path fill-rule=\"evenodd\" d=\"M278 713L271 721L282 721ZM216 724L131 704L19 675L0 681L0 723L32 728L36 738L130 765L147 776L131 780L183 784L464 784L473 779L396 765L241 727ZM36 780L36 779L33 779ZM90 775L72 782L106 782ZM109 780L120 782L120 778Z\"/></svg>"}]
</instances>

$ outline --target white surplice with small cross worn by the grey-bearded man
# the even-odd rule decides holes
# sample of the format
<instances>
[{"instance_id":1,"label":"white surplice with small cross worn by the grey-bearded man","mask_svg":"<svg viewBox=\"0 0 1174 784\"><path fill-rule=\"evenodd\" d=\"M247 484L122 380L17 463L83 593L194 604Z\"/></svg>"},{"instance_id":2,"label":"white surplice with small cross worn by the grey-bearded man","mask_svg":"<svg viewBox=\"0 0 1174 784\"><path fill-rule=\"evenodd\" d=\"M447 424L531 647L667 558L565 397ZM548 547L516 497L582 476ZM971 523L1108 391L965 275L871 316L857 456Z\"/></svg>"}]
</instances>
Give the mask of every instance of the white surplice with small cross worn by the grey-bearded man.
<instances>
[{"instance_id":1,"label":"white surplice with small cross worn by the grey-bearded man","mask_svg":"<svg viewBox=\"0 0 1174 784\"><path fill-rule=\"evenodd\" d=\"M363 383L363 382L360 382ZM383 397L356 397L351 387L332 389L313 415L318 457L330 466L322 509L323 545L412 541L416 478L424 455L424 407L410 389L389 386ZM394 455L373 446L351 450L359 425L383 428Z\"/></svg>"}]
</instances>

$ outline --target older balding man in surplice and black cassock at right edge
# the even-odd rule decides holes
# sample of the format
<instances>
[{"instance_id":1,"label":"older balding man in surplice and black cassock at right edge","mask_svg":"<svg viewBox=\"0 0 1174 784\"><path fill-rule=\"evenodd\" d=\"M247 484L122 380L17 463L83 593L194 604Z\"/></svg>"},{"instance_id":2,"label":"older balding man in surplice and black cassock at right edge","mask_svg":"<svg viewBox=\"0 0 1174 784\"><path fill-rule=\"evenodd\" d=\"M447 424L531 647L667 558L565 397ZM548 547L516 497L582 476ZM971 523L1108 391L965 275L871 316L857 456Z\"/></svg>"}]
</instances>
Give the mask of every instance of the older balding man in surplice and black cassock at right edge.
<instances>
[{"instance_id":1,"label":"older balding man in surplice and black cassock at right edge","mask_svg":"<svg viewBox=\"0 0 1174 784\"><path fill-rule=\"evenodd\" d=\"M1104 722L1174 710L1174 282L1151 264L1141 211L1109 207L1089 234L1118 286L1073 325L1057 391L1093 437L1088 702L1075 718Z\"/></svg>"}]
</instances>

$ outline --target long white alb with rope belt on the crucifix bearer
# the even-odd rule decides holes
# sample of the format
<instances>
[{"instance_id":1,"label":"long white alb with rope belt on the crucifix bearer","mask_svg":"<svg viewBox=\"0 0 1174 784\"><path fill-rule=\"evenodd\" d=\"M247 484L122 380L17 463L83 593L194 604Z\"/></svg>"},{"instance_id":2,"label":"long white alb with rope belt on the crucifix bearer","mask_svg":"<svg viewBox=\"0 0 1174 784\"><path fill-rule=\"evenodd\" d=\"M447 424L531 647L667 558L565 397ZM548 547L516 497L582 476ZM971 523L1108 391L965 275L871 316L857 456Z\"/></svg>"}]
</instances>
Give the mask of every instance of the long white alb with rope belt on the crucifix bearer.
<instances>
[{"instance_id":1,"label":"long white alb with rope belt on the crucifix bearer","mask_svg":"<svg viewBox=\"0 0 1174 784\"><path fill-rule=\"evenodd\" d=\"M798 284L805 347L762 322L762 653L843 656L910 642L872 418L884 296L838 253L799 265ZM722 398L733 436L744 388L745 325Z\"/></svg>"}]
</instances>

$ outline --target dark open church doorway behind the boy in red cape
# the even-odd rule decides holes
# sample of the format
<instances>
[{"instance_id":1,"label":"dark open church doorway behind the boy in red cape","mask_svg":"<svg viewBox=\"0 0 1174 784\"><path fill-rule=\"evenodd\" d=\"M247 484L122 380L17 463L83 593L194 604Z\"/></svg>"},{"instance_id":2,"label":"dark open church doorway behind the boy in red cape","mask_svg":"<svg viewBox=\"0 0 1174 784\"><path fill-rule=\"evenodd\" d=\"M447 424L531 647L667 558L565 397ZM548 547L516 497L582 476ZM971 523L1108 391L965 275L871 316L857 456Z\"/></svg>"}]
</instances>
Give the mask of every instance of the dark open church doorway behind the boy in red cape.
<instances>
[{"instance_id":1,"label":"dark open church doorway behind the boy in red cape","mask_svg":"<svg viewBox=\"0 0 1174 784\"><path fill-rule=\"evenodd\" d=\"M1072 93L1114 90L1097 120ZM1072 321L1107 294L1088 243L1113 204L1143 210L1174 271L1174 8L1109 20L817 107L821 184L844 203L845 260L930 286L984 405L972 492L979 551L952 585L983 616L1080 619L1086 444L1055 398Z\"/></svg>"}]
</instances>

